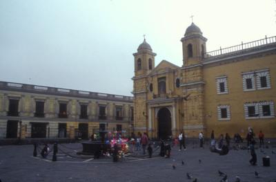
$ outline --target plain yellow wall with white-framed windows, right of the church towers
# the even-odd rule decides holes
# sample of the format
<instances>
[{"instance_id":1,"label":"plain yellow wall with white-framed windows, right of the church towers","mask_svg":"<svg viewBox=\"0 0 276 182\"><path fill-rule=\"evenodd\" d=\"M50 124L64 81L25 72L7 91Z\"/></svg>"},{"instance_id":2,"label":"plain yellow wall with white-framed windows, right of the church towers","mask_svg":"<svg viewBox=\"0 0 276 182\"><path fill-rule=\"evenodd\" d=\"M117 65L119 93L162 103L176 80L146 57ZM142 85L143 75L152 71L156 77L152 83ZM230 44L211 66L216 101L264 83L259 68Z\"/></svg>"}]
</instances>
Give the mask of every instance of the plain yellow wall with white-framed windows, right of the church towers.
<instances>
[{"instance_id":1,"label":"plain yellow wall with white-framed windows, right of the church towers","mask_svg":"<svg viewBox=\"0 0 276 182\"><path fill-rule=\"evenodd\" d=\"M271 89L243 91L242 72L269 69ZM226 75L228 94L217 94L216 77ZM262 129L266 137L276 137L276 119L262 118L246 120L244 116L245 102L273 101L276 103L276 55L256 57L249 60L229 62L228 64L204 67L206 131L210 136L212 129L218 137L228 132L245 136L248 127L255 132ZM217 120L217 105L230 105L230 120ZM275 110L275 108L274 108Z\"/></svg>"}]
</instances>

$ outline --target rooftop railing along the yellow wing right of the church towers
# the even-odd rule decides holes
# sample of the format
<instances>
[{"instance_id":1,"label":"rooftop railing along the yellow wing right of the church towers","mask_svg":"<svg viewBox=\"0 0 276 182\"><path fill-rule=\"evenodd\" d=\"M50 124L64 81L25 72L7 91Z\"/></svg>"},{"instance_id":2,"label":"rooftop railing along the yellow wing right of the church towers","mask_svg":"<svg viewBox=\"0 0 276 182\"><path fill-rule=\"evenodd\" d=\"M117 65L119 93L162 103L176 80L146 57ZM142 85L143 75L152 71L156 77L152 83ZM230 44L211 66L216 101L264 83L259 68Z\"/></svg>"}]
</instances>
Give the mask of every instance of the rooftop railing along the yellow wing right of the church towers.
<instances>
[{"instance_id":1,"label":"rooftop railing along the yellow wing right of the church towers","mask_svg":"<svg viewBox=\"0 0 276 182\"><path fill-rule=\"evenodd\" d=\"M218 57L220 55L230 55L230 54L237 53L239 51L248 50L250 48L256 48L259 46L273 44L275 42L276 42L276 36L266 37L264 39L259 39L253 42L247 42L247 43L242 42L242 44L239 44L237 46L230 46L228 48L219 48L219 50L204 53L204 58L208 59L210 57Z\"/></svg>"}]
</instances>

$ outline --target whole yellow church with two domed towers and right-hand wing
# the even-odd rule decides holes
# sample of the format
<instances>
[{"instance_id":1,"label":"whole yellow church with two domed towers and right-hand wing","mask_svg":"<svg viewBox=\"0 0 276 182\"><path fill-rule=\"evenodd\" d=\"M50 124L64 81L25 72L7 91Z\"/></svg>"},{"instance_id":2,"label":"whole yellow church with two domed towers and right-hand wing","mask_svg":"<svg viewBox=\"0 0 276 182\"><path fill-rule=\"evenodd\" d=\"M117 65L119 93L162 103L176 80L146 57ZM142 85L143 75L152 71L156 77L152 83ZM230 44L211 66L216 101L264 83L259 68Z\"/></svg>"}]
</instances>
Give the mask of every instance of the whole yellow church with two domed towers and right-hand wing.
<instances>
[{"instance_id":1,"label":"whole yellow church with two domed towers and right-hand wing","mask_svg":"<svg viewBox=\"0 0 276 182\"><path fill-rule=\"evenodd\" d=\"M144 39L134 53L134 129L152 138L210 137L248 127L276 137L276 37L206 53L206 37L191 24L181 38L183 65L166 60Z\"/></svg>"}]
</instances>

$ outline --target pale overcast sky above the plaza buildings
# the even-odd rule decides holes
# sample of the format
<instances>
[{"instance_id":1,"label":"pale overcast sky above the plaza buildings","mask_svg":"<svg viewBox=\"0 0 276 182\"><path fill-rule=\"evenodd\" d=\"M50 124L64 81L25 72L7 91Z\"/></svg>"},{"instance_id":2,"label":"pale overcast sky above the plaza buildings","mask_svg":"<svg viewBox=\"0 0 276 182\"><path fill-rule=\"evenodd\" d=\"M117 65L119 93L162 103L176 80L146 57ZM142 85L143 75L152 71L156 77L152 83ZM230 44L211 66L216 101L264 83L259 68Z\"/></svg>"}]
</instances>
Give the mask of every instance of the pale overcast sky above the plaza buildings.
<instances>
[{"instance_id":1,"label":"pale overcast sky above the plaza buildings","mask_svg":"<svg viewBox=\"0 0 276 182\"><path fill-rule=\"evenodd\" d=\"M143 35L182 66L191 15L207 51L276 35L276 0L1 0L0 80L131 95Z\"/></svg>"}]
</instances>

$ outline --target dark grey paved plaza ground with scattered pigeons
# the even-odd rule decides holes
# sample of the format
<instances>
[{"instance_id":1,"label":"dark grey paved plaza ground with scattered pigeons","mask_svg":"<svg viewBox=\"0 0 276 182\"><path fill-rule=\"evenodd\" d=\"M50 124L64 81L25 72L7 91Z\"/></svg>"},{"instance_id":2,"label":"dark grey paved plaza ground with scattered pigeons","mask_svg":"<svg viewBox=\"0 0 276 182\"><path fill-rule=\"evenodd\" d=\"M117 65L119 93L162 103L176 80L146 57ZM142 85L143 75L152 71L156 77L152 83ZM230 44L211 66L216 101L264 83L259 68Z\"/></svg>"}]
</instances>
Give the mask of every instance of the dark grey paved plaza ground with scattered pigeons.
<instances>
[{"instance_id":1,"label":"dark grey paved plaza ground with scattered pigeons","mask_svg":"<svg viewBox=\"0 0 276 182\"><path fill-rule=\"evenodd\" d=\"M173 147L170 158L159 157L158 150L152 158L127 156L118 163L112 163L112 158L108 157L76 158L76 152L81 150L79 143L59 145L59 149L63 152L59 150L58 161L52 162L52 156L33 157L32 145L0 146L1 181L193 181L186 177L189 172L199 182L214 182L222 179L217 170L228 175L228 182L235 181L237 175L242 181L276 181L276 154L272 153L276 151L275 146L264 149L266 154L256 150L256 166L249 165L247 150L230 150L226 156L219 156L211 153L207 145L204 149L188 145L187 150L181 152ZM266 155L270 156L270 167L262 166L262 157ZM181 165L182 160L184 165ZM255 177L255 171L259 172L259 178Z\"/></svg>"}]
</instances>

